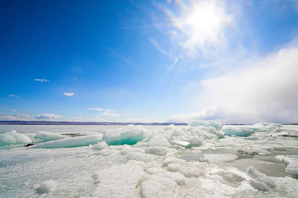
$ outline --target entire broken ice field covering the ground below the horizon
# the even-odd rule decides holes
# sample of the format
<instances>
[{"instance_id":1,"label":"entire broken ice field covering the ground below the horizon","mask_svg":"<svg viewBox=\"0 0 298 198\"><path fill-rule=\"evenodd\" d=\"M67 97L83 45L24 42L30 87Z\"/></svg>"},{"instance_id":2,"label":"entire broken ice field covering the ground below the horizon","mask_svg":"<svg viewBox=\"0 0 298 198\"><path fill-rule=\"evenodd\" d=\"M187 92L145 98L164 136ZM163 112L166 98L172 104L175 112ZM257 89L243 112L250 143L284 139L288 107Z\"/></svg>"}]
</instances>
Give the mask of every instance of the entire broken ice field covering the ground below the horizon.
<instances>
[{"instance_id":1,"label":"entire broken ice field covering the ground below the horizon","mask_svg":"<svg viewBox=\"0 0 298 198\"><path fill-rule=\"evenodd\" d=\"M0 126L0 198L89 197L298 198L298 126Z\"/></svg>"}]
</instances>

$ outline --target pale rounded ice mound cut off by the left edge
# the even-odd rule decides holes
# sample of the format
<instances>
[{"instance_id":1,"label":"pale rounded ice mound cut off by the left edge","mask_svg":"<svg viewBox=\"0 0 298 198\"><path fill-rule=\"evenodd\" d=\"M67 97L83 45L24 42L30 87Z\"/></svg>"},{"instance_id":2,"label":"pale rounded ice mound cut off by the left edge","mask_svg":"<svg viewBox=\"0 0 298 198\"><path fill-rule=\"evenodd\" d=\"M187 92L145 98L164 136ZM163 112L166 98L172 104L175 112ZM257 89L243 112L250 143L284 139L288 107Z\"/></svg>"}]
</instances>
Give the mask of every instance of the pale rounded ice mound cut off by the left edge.
<instances>
[{"instance_id":1,"label":"pale rounded ice mound cut off by the left edge","mask_svg":"<svg viewBox=\"0 0 298 198\"><path fill-rule=\"evenodd\" d=\"M30 144L32 141L24 134L17 133L12 130L5 134L0 134L0 146L6 145L20 145L20 144Z\"/></svg>"}]
</instances>

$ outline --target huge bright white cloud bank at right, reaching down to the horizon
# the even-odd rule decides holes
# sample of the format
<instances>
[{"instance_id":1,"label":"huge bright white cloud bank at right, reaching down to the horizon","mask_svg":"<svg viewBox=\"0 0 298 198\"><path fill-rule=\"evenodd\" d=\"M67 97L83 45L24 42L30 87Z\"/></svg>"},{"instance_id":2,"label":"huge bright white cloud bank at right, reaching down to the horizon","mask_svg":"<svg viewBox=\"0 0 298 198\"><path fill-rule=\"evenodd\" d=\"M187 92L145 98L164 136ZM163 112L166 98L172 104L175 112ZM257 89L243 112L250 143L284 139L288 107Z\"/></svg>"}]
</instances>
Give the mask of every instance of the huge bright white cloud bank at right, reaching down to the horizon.
<instances>
[{"instance_id":1,"label":"huge bright white cloud bank at right, reaching down to the horizon","mask_svg":"<svg viewBox=\"0 0 298 198\"><path fill-rule=\"evenodd\" d=\"M223 123L297 123L297 44L293 42L265 57L248 59L217 77L190 83L187 96L194 99L191 104L201 109L217 106L210 116L222 117ZM210 119L206 112L205 109L170 118L173 121Z\"/></svg>"}]
</instances>

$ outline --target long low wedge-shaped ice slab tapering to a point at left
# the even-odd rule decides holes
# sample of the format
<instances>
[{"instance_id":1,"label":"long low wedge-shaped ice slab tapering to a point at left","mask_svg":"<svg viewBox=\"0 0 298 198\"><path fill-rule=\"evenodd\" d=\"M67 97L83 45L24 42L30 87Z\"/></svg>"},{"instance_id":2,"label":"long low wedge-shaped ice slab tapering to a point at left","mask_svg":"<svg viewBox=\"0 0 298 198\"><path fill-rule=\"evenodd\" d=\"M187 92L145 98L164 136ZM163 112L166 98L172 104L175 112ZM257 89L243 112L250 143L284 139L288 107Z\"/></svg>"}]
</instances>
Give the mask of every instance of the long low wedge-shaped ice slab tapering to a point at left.
<instances>
[{"instance_id":1,"label":"long low wedge-shaped ice slab tapering to a point at left","mask_svg":"<svg viewBox=\"0 0 298 198\"><path fill-rule=\"evenodd\" d=\"M66 138L50 142L43 142L28 148L72 148L95 145L102 140L102 134Z\"/></svg>"}]
</instances>

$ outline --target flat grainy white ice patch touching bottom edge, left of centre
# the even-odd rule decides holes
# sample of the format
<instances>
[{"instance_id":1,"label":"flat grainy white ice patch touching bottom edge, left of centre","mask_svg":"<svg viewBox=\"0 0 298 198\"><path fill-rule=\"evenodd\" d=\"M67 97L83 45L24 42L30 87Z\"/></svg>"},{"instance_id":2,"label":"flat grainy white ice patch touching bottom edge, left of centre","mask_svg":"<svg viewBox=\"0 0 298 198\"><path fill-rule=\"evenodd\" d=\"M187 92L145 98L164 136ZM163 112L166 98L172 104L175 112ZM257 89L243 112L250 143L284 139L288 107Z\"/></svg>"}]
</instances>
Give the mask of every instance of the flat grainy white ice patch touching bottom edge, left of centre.
<instances>
[{"instance_id":1,"label":"flat grainy white ice patch touching bottom edge, left of centre","mask_svg":"<svg viewBox=\"0 0 298 198\"><path fill-rule=\"evenodd\" d=\"M98 171L94 176L97 184L92 197L95 198L131 198L139 180L145 175L140 165L113 165Z\"/></svg>"}]
</instances>

